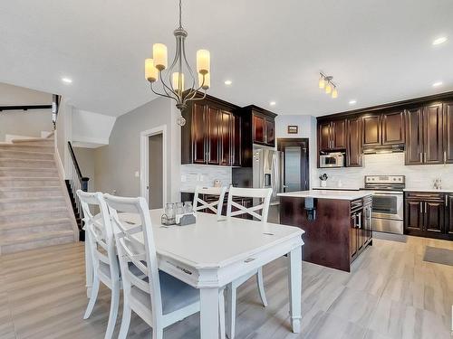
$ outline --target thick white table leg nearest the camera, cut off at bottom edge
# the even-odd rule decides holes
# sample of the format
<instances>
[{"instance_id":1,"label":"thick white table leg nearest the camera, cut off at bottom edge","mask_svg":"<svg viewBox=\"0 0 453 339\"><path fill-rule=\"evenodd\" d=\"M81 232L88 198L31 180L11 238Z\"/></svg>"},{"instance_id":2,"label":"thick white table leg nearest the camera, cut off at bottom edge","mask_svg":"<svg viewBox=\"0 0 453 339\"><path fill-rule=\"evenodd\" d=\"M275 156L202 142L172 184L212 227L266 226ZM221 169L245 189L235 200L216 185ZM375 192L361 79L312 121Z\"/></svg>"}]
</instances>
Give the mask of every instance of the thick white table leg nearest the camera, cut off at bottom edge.
<instances>
[{"instance_id":1,"label":"thick white table leg nearest the camera, cut off at bottom edge","mask_svg":"<svg viewBox=\"0 0 453 339\"><path fill-rule=\"evenodd\" d=\"M201 339L218 338L218 288L200 288Z\"/></svg>"}]
</instances>

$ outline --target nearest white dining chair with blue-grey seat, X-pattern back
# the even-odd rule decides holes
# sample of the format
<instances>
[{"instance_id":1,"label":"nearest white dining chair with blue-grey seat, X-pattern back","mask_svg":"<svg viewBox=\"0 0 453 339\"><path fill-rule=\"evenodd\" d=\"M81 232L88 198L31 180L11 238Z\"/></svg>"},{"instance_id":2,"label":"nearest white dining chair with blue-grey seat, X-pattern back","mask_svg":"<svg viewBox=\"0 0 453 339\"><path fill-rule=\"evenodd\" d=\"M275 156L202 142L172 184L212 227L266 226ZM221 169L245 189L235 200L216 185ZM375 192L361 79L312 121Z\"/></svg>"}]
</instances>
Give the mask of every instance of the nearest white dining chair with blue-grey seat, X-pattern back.
<instances>
[{"instance_id":1,"label":"nearest white dining chair with blue-grey seat, X-pattern back","mask_svg":"<svg viewBox=\"0 0 453 339\"><path fill-rule=\"evenodd\" d=\"M119 338L126 338L131 311L151 328L152 338L162 339L165 327L199 312L199 291L158 269L148 204L143 198L121 198L104 195L109 206L117 243L123 283L123 314ZM126 221L119 212L133 213ZM138 240L142 237L143 241ZM131 267L140 269L146 278L139 278ZM223 301L219 297L220 303ZM222 305L223 306L223 305ZM220 334L225 337L225 315L220 316Z\"/></svg>"}]
</instances>

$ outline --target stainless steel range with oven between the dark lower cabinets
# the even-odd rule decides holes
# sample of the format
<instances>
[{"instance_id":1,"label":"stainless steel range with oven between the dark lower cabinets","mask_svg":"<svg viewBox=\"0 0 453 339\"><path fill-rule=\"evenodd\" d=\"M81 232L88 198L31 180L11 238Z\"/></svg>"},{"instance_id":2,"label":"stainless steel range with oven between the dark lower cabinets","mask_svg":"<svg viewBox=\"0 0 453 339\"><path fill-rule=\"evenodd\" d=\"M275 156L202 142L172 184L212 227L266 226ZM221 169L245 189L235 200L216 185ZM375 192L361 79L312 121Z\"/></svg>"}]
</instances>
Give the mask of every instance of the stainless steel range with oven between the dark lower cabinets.
<instances>
[{"instance_id":1,"label":"stainless steel range with oven between the dark lower cabinets","mask_svg":"<svg viewBox=\"0 0 453 339\"><path fill-rule=\"evenodd\" d=\"M365 189L372 193L373 231L403 234L404 175L365 175Z\"/></svg>"}]
</instances>

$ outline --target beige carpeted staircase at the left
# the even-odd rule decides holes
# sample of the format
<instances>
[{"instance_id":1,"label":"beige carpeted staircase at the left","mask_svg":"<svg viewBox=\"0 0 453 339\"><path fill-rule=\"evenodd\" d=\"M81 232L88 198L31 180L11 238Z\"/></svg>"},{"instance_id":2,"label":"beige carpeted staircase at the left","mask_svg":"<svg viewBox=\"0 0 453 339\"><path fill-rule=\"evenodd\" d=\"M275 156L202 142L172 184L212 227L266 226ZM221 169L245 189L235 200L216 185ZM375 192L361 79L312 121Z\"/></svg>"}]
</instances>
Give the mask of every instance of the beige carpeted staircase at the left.
<instances>
[{"instance_id":1,"label":"beige carpeted staircase at the left","mask_svg":"<svg viewBox=\"0 0 453 339\"><path fill-rule=\"evenodd\" d=\"M0 144L0 255L77 241L53 137Z\"/></svg>"}]
</instances>

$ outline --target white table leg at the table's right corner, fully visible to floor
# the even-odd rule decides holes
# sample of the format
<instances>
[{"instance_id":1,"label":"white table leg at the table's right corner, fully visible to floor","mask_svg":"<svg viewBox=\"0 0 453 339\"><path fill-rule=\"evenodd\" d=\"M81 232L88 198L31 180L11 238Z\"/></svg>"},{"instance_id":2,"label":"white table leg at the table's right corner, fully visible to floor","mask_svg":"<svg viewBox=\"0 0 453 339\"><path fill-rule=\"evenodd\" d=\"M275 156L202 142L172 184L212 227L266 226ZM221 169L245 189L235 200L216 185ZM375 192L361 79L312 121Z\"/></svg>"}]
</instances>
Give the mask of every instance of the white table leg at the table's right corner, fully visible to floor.
<instances>
[{"instance_id":1,"label":"white table leg at the table's right corner, fully visible to floor","mask_svg":"<svg viewBox=\"0 0 453 339\"><path fill-rule=\"evenodd\" d=\"M301 332L302 246L288 253L289 314L294 333Z\"/></svg>"}]
</instances>

